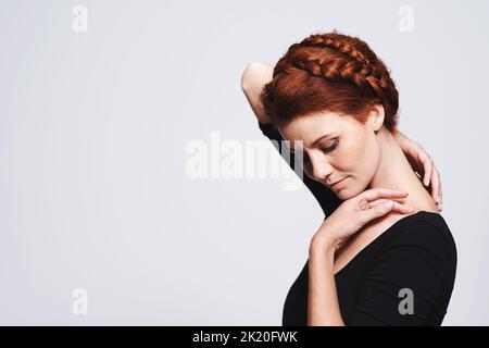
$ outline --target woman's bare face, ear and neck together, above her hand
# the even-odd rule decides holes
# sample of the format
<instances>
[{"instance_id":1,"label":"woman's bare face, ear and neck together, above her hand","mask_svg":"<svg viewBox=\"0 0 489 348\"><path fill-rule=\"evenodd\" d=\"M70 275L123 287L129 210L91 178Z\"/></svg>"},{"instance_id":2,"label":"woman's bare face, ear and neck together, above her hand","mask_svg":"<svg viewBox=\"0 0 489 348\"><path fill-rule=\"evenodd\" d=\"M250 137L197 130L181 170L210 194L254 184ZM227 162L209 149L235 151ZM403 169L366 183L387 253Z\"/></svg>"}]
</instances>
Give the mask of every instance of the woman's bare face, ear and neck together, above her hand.
<instances>
[{"instance_id":1,"label":"woman's bare face, ear and neck together, above her hand","mask_svg":"<svg viewBox=\"0 0 489 348\"><path fill-rule=\"evenodd\" d=\"M293 150L303 150L304 172L312 179L330 187L330 187L339 199L344 201L371 188L390 188L410 194L404 200L406 206L438 212L392 133L384 126L384 117L379 105L369 111L365 123L323 112L298 117L278 130ZM312 146L330 133L330 137Z\"/></svg>"}]
</instances>

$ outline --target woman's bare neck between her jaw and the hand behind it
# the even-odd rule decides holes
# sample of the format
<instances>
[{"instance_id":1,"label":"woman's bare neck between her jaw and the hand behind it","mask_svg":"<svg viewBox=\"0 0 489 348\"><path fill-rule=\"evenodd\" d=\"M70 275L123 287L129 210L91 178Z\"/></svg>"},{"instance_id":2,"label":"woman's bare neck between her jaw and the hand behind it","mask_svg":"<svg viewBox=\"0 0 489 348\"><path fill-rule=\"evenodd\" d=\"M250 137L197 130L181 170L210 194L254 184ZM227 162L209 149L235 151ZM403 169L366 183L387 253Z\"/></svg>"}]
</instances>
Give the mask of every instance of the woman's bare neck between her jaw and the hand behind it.
<instances>
[{"instance_id":1,"label":"woman's bare neck between her jaw and the hand behind it","mask_svg":"<svg viewBox=\"0 0 489 348\"><path fill-rule=\"evenodd\" d=\"M409 192L404 202L415 211L439 212L422 179L414 173L392 134L381 127L377 132L380 144L380 163L368 188L390 188Z\"/></svg>"}]
</instances>

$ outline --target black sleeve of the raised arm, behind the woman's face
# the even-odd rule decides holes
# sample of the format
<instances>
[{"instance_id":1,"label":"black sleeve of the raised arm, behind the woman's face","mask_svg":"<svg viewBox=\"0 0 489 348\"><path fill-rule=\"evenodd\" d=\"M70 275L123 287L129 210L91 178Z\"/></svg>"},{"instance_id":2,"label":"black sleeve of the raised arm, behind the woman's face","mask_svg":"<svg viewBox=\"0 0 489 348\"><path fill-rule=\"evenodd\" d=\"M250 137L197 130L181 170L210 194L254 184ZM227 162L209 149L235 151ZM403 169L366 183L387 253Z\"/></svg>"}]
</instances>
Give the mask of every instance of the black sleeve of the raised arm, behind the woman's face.
<instances>
[{"instance_id":1,"label":"black sleeve of the raised arm, behind the woman's face","mask_svg":"<svg viewBox=\"0 0 489 348\"><path fill-rule=\"evenodd\" d=\"M286 147L286 144L281 142L281 140L284 140L284 137L280 135L280 133L269 123L265 124L259 122L259 126L260 129L262 129L264 136L266 136L271 140L275 140L278 144L278 147L275 146L275 148L280 153L280 156L283 158L286 158L286 156L288 157L289 154L287 153L287 151L284 151L285 148L283 148ZM289 165L292 169L294 167L294 157L291 157L290 161L287 162L290 162ZM335 211L335 209L338 208L339 204L341 204L342 201L328 187L316 181L313 181L308 175L305 175L302 167L298 167L297 170L302 172L302 182L316 198L317 202L323 209L325 216L329 216Z\"/></svg>"}]
</instances>

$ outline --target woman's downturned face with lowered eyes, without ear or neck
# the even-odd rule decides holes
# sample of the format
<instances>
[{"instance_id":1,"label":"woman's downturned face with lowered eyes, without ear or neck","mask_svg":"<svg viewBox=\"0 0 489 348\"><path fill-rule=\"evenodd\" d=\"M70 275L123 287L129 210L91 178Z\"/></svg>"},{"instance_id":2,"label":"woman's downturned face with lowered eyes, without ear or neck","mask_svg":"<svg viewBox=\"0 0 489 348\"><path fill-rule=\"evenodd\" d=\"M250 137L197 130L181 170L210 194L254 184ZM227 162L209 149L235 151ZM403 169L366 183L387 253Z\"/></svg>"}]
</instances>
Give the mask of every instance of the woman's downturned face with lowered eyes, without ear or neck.
<instances>
[{"instance_id":1,"label":"woman's downturned face with lowered eyes, without ear or neck","mask_svg":"<svg viewBox=\"0 0 489 348\"><path fill-rule=\"evenodd\" d=\"M291 140L291 146L296 145L296 151L302 149L308 176L328 187L327 183L348 177L340 188L334 189L338 198L347 200L364 191L377 172L381 157L377 127L369 122L362 124L352 116L325 112L296 119L279 132ZM311 147L314 140L329 133L334 135ZM338 141L337 147L324 152L323 149L335 141Z\"/></svg>"}]
</instances>

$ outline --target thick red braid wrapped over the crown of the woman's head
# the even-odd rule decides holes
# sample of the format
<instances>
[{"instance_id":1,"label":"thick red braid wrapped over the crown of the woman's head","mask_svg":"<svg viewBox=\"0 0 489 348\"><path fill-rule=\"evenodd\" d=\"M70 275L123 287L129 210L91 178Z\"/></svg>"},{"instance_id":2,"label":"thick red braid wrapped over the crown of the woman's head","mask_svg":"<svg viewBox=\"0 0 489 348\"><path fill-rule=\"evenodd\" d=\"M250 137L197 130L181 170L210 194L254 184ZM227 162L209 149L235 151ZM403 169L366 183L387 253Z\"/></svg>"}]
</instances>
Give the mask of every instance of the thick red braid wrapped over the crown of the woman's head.
<instances>
[{"instance_id":1,"label":"thick red braid wrapped over the crown of the woman's head","mask_svg":"<svg viewBox=\"0 0 489 348\"><path fill-rule=\"evenodd\" d=\"M396 85L384 62L359 38L335 30L311 35L290 46L275 66L273 84L266 86L264 97L268 100L268 105L265 104L265 109L273 112L273 90L279 88L279 79L293 75L294 69L328 83L354 86L361 96L383 104L388 129L397 127L399 94Z\"/></svg>"}]
</instances>

